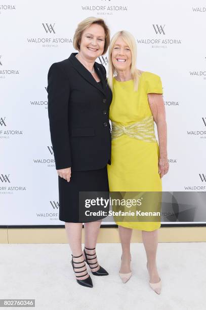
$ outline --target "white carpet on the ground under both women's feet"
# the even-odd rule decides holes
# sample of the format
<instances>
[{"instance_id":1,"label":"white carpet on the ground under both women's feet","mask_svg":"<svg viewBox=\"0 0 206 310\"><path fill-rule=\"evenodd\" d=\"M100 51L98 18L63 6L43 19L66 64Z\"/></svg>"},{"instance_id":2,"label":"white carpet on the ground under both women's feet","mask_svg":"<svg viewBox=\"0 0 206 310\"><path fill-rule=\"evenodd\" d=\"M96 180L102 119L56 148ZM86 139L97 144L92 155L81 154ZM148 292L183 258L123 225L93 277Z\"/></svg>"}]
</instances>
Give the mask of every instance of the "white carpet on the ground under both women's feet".
<instances>
[{"instance_id":1,"label":"white carpet on the ground under both women's feet","mask_svg":"<svg viewBox=\"0 0 206 310\"><path fill-rule=\"evenodd\" d=\"M109 276L90 273L94 287L87 288L76 283L67 244L0 244L0 298L32 298L37 310L206 308L206 243L158 244L160 295L149 287L143 244L133 243L131 252L133 276L123 284L120 244L97 244L99 263Z\"/></svg>"}]
</instances>

